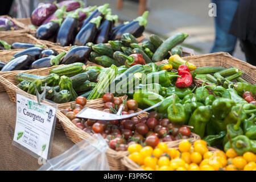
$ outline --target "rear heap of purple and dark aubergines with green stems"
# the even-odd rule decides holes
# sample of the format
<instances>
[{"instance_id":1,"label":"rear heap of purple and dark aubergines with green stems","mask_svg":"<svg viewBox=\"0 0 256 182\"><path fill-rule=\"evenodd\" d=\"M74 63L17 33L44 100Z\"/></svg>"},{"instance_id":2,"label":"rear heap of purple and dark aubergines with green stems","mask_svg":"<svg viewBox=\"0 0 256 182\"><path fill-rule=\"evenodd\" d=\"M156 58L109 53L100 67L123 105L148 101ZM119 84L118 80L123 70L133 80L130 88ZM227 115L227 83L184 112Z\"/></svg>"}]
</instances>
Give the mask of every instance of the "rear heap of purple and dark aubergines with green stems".
<instances>
[{"instance_id":1,"label":"rear heap of purple and dark aubergines with green stems","mask_svg":"<svg viewBox=\"0 0 256 182\"><path fill-rule=\"evenodd\" d=\"M65 2L65 3L64 3ZM85 46L86 43L107 43L109 40L120 40L125 33L135 38L142 36L147 25L148 11L131 22L124 22L115 26L118 16L111 14L109 4L83 8L80 1L75 1L75 10L71 10L70 3L49 3L48 6L38 7L31 15L31 22L39 26L36 38L51 40L61 46ZM80 4L80 6L79 6ZM46 16L40 17L37 13L46 11Z\"/></svg>"}]
</instances>

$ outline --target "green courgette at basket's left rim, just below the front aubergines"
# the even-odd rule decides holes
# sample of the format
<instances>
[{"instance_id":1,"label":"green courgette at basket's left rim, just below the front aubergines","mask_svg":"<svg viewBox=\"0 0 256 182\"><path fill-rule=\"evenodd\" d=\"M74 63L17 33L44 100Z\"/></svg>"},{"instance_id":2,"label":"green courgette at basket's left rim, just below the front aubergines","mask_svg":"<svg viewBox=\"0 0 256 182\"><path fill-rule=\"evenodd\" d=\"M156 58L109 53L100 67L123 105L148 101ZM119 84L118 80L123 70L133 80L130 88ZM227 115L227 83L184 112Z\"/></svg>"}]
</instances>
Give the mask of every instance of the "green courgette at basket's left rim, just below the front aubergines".
<instances>
[{"instance_id":1,"label":"green courgette at basket's left rim, just below the front aubergines","mask_svg":"<svg viewBox=\"0 0 256 182\"><path fill-rule=\"evenodd\" d=\"M49 73L55 73L59 76L72 77L79 73L85 72L86 66L84 63L73 63L64 65L63 67L53 68Z\"/></svg>"}]
</instances>

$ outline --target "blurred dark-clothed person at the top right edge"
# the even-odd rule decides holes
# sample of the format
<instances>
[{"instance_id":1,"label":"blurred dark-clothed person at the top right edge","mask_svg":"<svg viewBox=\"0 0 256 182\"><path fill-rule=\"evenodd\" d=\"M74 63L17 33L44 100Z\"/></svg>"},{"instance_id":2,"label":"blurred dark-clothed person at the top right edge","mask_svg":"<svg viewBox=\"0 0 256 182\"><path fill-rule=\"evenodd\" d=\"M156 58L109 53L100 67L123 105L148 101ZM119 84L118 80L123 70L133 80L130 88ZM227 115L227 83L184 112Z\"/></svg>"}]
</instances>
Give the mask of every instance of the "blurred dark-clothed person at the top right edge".
<instances>
[{"instance_id":1,"label":"blurred dark-clothed person at the top right edge","mask_svg":"<svg viewBox=\"0 0 256 182\"><path fill-rule=\"evenodd\" d=\"M230 34L240 39L246 61L256 65L256 1L241 0L234 15Z\"/></svg>"}]
</instances>

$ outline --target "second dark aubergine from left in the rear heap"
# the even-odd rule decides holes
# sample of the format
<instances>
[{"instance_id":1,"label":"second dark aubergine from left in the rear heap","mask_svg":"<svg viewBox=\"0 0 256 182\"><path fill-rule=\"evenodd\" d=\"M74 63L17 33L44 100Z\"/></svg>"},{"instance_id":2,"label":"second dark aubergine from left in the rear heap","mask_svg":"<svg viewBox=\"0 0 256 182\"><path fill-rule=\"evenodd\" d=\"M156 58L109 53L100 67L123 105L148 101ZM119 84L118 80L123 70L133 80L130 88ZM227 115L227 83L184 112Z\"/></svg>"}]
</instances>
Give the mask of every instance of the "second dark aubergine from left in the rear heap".
<instances>
[{"instance_id":1,"label":"second dark aubergine from left in the rear heap","mask_svg":"<svg viewBox=\"0 0 256 182\"><path fill-rule=\"evenodd\" d=\"M78 31L78 14L79 11L75 11L75 13L69 15L61 24L57 34L57 43L60 43L61 46L69 46L69 44L73 44Z\"/></svg>"}]
</instances>

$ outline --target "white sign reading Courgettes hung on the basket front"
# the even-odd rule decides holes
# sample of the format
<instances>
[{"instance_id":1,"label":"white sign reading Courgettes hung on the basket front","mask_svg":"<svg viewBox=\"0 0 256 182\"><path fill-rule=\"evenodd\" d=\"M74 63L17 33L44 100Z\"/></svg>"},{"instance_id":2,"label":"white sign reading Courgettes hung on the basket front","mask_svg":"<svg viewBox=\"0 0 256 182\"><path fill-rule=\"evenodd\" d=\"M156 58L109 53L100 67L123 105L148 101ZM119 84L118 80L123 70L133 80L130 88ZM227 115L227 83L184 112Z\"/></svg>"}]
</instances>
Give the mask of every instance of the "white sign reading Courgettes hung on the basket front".
<instances>
[{"instance_id":1,"label":"white sign reading Courgettes hung on the basket front","mask_svg":"<svg viewBox=\"0 0 256 182\"><path fill-rule=\"evenodd\" d=\"M56 108L16 94L14 145L36 157L48 159Z\"/></svg>"}]
</instances>

